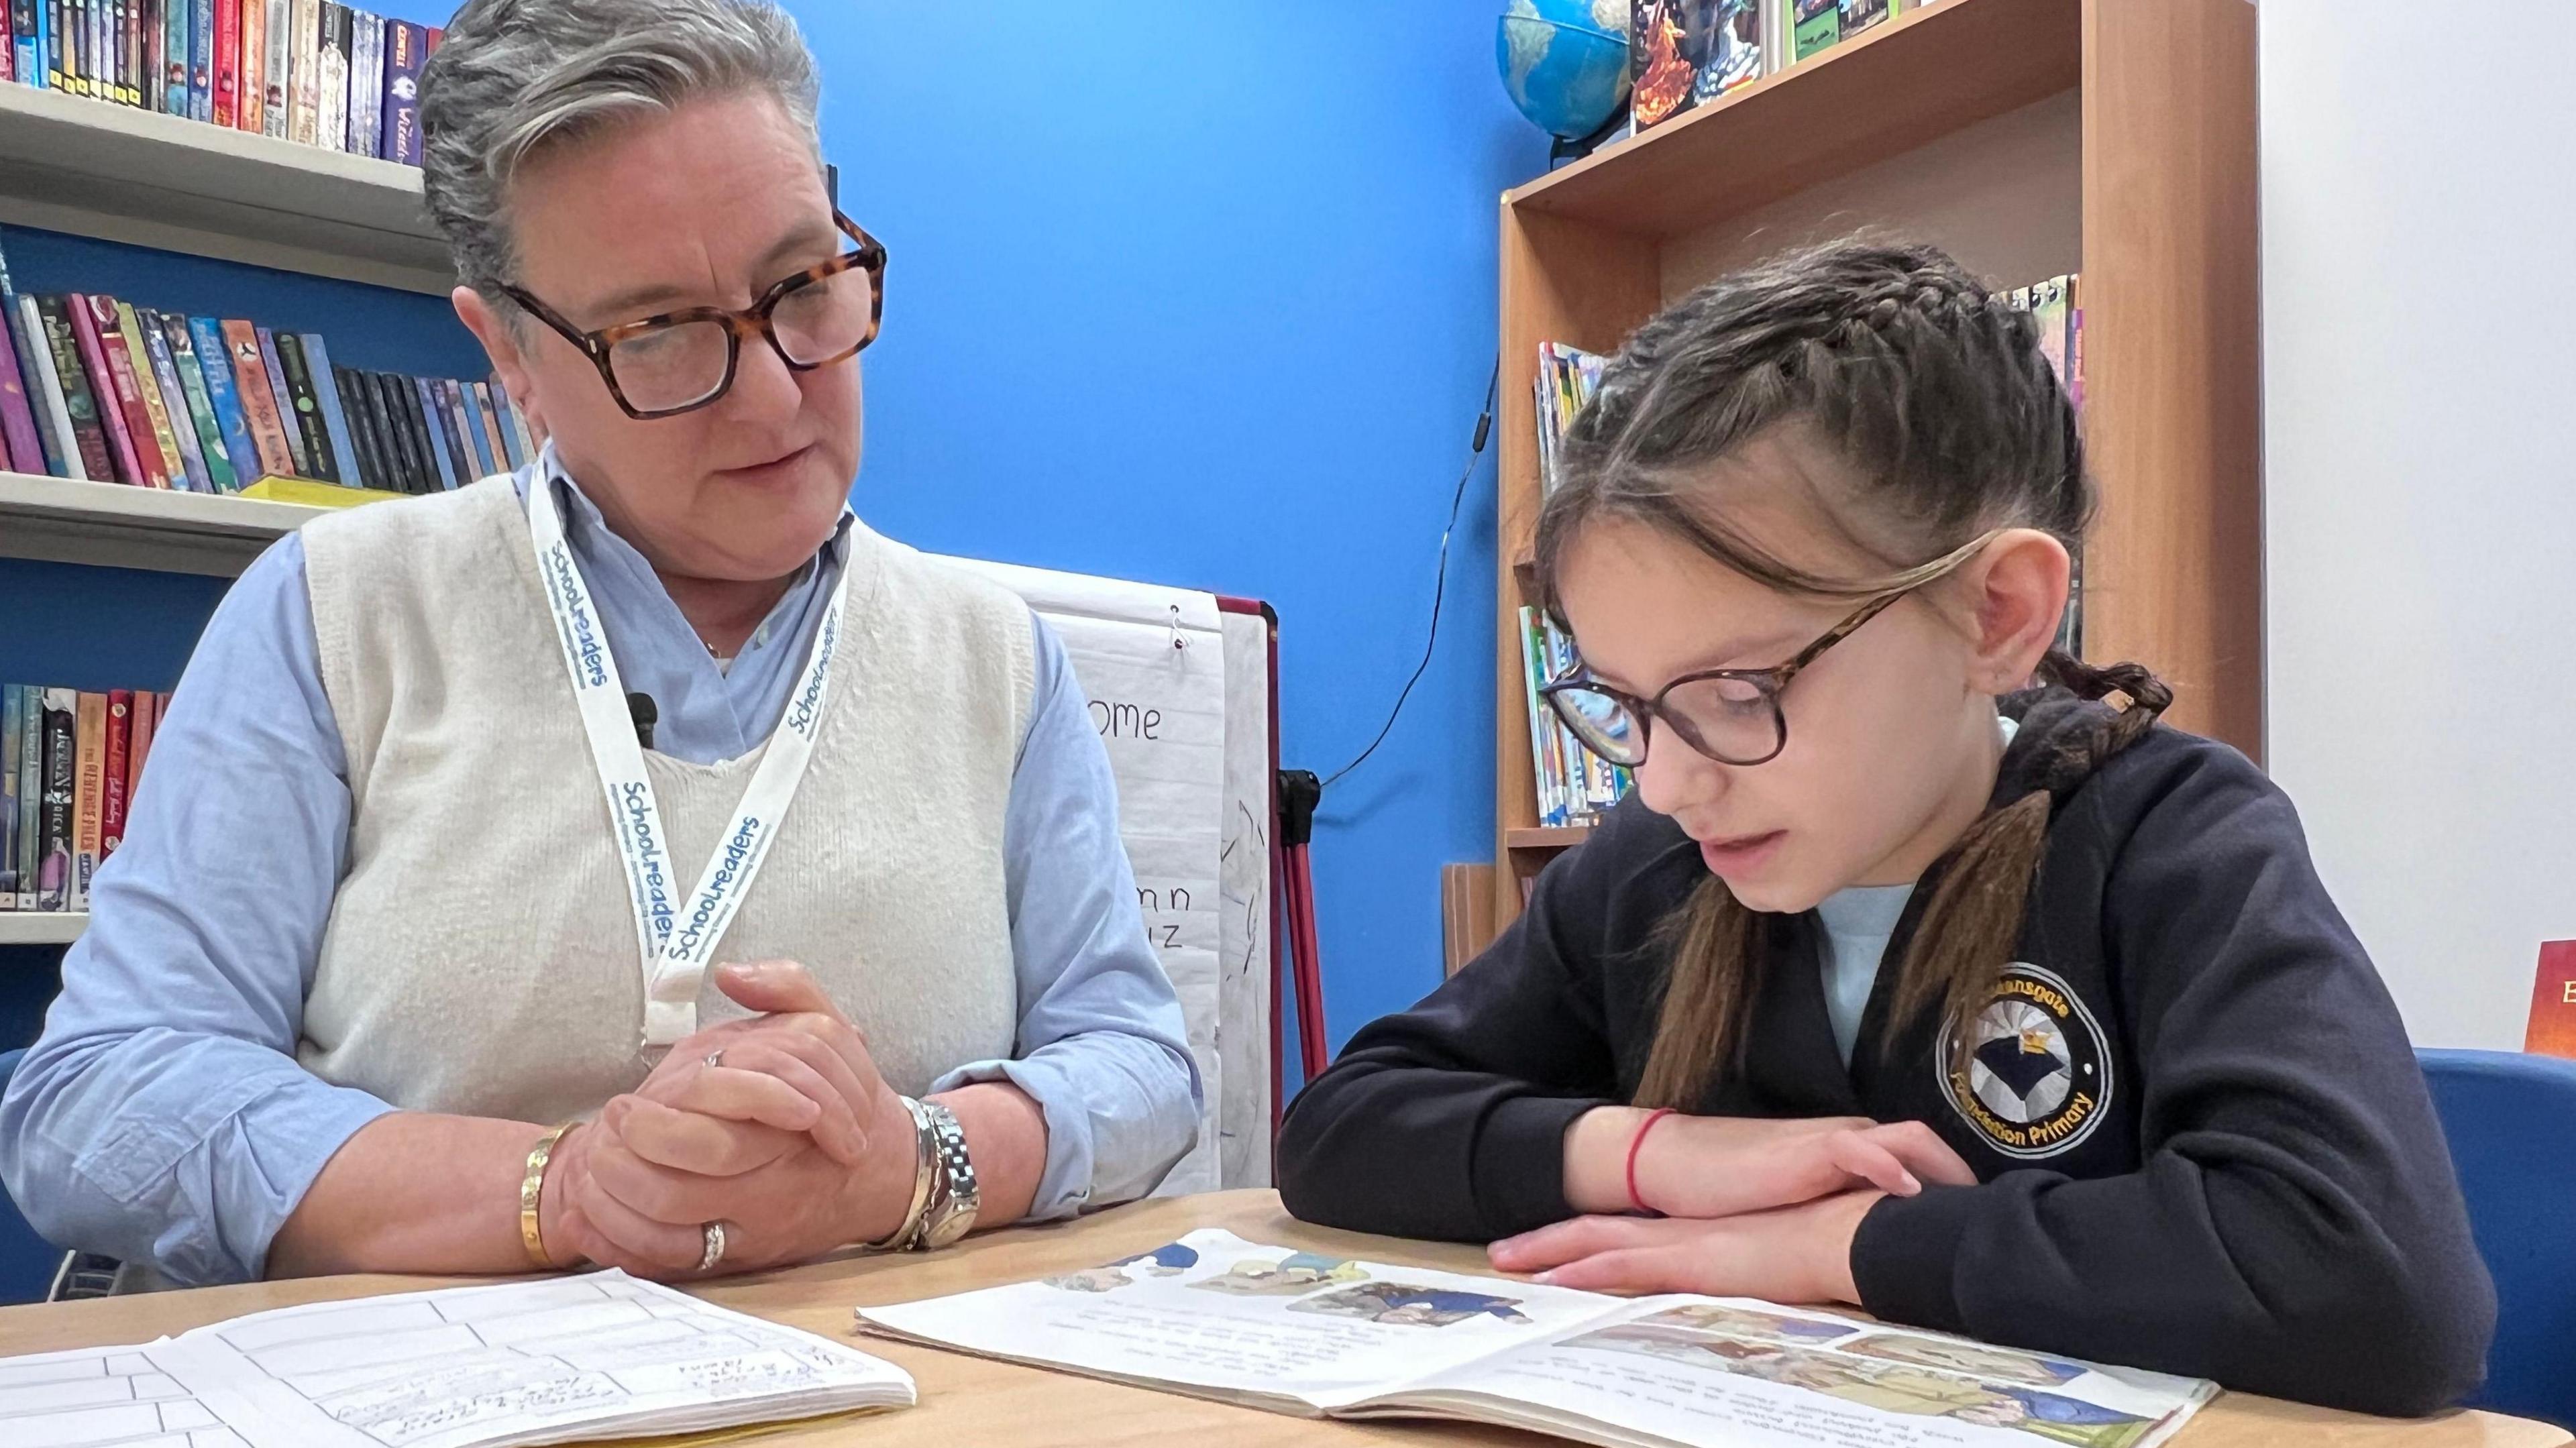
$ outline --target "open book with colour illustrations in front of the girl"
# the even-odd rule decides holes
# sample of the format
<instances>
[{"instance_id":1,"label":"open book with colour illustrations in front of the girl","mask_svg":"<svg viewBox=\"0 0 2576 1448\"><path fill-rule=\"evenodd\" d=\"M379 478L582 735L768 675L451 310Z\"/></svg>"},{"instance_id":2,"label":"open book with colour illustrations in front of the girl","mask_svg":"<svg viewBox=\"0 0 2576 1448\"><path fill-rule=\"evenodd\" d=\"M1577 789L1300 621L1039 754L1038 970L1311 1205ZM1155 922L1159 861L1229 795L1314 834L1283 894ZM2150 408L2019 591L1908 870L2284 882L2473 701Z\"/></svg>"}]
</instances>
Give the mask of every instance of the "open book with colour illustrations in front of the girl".
<instances>
[{"instance_id":1,"label":"open book with colour illustrations in front of the girl","mask_svg":"<svg viewBox=\"0 0 2576 1448\"><path fill-rule=\"evenodd\" d=\"M1193 1232L860 1327L1324 1417L1455 1417L1610 1448L2148 1448L2218 1391L1747 1299L1610 1299Z\"/></svg>"}]
</instances>

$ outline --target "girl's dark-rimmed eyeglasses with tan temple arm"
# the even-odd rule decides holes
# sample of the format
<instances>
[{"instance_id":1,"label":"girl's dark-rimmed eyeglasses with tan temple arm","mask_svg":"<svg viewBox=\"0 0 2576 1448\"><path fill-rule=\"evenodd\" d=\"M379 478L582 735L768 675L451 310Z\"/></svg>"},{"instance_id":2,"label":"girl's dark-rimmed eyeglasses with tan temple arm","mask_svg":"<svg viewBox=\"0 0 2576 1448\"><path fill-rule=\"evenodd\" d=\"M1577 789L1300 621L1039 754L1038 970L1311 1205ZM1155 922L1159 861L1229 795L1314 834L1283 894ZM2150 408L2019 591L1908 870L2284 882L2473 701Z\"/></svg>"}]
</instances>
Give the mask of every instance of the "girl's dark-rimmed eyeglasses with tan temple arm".
<instances>
[{"instance_id":1,"label":"girl's dark-rimmed eyeglasses with tan temple arm","mask_svg":"<svg viewBox=\"0 0 2576 1448\"><path fill-rule=\"evenodd\" d=\"M1862 603L1860 611L1826 629L1821 639L1798 649L1798 657L1780 667L1687 672L1667 683L1654 698L1638 698L1584 678L1584 665L1577 662L1538 693L1582 747L1613 765L1643 765L1656 721L1721 765L1765 765L1788 747L1788 714L1780 709L1780 693L1788 691L1790 680L1901 598L1940 582L1973 559L1996 533L1984 533L1963 549L1914 569L1911 582Z\"/></svg>"}]
</instances>

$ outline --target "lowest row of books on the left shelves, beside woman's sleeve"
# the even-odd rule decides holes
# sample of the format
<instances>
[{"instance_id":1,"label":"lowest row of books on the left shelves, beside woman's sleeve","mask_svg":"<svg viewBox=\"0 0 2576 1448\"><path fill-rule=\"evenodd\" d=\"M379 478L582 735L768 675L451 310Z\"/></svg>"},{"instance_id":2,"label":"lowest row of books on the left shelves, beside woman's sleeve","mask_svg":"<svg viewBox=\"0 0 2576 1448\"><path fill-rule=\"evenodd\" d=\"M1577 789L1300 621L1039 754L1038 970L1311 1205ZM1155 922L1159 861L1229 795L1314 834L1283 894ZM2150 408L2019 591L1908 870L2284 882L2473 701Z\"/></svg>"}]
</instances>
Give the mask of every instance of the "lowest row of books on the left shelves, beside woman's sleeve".
<instances>
[{"instance_id":1,"label":"lowest row of books on the left shelves, beside woman's sleeve","mask_svg":"<svg viewBox=\"0 0 2576 1448\"><path fill-rule=\"evenodd\" d=\"M0 685L0 910L88 910L167 693Z\"/></svg>"}]
</instances>

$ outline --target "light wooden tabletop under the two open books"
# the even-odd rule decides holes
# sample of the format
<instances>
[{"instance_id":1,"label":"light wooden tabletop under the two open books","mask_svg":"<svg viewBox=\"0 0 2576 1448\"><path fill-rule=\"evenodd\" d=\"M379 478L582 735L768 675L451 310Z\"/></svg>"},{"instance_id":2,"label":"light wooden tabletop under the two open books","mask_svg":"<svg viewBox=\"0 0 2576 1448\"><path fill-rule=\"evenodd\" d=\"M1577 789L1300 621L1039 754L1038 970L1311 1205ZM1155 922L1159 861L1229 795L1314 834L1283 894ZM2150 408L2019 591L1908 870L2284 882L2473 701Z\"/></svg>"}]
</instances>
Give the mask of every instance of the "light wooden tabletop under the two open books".
<instances>
[{"instance_id":1,"label":"light wooden tabletop under the two open books","mask_svg":"<svg viewBox=\"0 0 2576 1448\"><path fill-rule=\"evenodd\" d=\"M835 1257L786 1273L711 1283L701 1288L701 1296L737 1311L850 1340L850 1309L860 1304L881 1306L1090 1268L1146 1252L1195 1226L1224 1226L1249 1242L1342 1257L1489 1273L1484 1252L1473 1247L1306 1226L1280 1211L1275 1193L1239 1190L1136 1203L1074 1224L994 1232L935 1257ZM59 1306L10 1306L0 1309L0 1355L147 1342L162 1332L175 1335L245 1311L425 1286L451 1283L319 1278ZM858 1345L902 1363L922 1389L920 1407L765 1435L757 1440L762 1448L824 1443L860 1448L1262 1448L1273 1443L1409 1443L1430 1448L1437 1443L1502 1443L1535 1448L1553 1443L1528 1433L1468 1425L1309 1422L878 1337L858 1340ZM2040 1440L2032 1438L2032 1443ZM2566 1443L2568 1435L2555 1427L2486 1412L2393 1422L2244 1394L2221 1394L2177 1438L2179 1448L2563 1448Z\"/></svg>"}]
</instances>

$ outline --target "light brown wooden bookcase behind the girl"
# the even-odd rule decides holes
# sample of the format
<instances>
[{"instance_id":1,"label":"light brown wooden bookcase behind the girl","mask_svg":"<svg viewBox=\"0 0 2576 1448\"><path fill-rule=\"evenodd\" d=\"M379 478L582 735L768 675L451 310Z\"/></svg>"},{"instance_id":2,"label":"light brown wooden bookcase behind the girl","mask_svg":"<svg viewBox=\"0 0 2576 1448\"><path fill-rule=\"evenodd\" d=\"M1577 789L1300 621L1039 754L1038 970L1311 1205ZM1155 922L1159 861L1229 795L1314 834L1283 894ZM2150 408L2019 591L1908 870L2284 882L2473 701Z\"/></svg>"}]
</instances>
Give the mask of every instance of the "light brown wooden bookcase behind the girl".
<instances>
[{"instance_id":1,"label":"light brown wooden bookcase behind the girl","mask_svg":"<svg viewBox=\"0 0 2576 1448\"><path fill-rule=\"evenodd\" d=\"M1502 198L1497 930L1582 840L1535 827L1520 680L1538 343L1613 350L1734 265L1862 227L1999 286L2084 273L2084 652L2148 662L2174 724L2259 757L2254 119L2246 0L1937 0Z\"/></svg>"}]
</instances>

